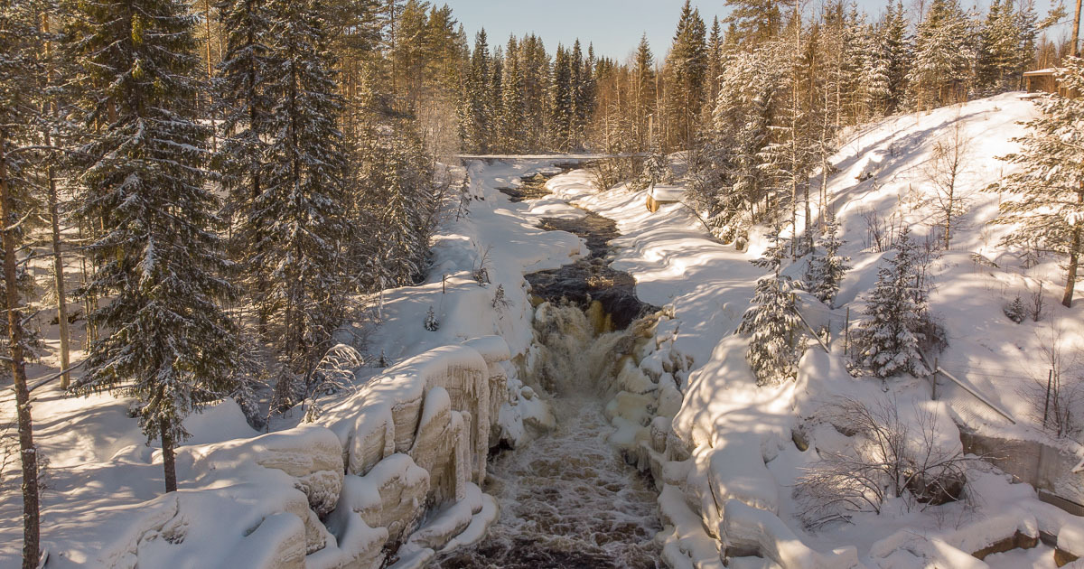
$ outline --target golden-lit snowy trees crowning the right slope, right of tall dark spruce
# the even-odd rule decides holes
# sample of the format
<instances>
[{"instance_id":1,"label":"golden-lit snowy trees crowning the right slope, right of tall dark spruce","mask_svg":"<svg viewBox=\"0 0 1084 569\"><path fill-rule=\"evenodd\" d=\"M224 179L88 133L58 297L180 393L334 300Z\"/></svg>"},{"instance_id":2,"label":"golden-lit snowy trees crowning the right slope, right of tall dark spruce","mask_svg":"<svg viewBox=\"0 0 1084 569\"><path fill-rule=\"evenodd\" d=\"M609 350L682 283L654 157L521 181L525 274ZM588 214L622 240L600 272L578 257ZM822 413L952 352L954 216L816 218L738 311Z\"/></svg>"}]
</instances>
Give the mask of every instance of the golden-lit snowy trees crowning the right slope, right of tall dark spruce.
<instances>
[{"instance_id":1,"label":"golden-lit snowy trees crowning the right slope, right of tall dark spruce","mask_svg":"<svg viewBox=\"0 0 1084 569\"><path fill-rule=\"evenodd\" d=\"M698 63L718 59L719 80L700 88L718 91L705 98L695 142L680 146L691 201L726 241L786 221L803 235L792 242L798 256L824 222L828 157L842 129L1021 88L1042 51L1040 29L1063 16L1041 24L1030 2L999 0L985 17L957 0L932 0L920 14L891 0L877 21L841 1L810 13L801 2L727 4L718 51Z\"/></svg>"}]
</instances>

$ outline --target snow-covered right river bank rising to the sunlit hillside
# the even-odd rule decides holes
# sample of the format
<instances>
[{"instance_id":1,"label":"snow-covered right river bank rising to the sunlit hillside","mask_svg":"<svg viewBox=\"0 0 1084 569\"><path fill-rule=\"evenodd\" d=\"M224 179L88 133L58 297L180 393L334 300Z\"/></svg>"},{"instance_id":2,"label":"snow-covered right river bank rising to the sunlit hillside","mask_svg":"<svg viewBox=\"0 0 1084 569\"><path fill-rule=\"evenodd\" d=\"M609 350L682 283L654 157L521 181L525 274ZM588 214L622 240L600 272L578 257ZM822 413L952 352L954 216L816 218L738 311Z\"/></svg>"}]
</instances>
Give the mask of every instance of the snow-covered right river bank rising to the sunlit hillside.
<instances>
[{"instance_id":1,"label":"snow-covered right river bank rising to the sunlit hillside","mask_svg":"<svg viewBox=\"0 0 1084 569\"><path fill-rule=\"evenodd\" d=\"M1084 520L1040 503L1030 486L1009 484L1007 477L991 468L970 473L966 503L908 507L895 502L880 515L860 514L850 523L828 523L816 531L802 525L800 505L791 495L803 468L816 461L817 449L850 444L847 437L830 428L830 432L814 429L808 422L823 404L841 397L870 405L889 401L904 422L907 416L932 417L942 444L957 449L956 425L960 425L982 435L1045 441L1060 449L1064 460L1084 456L1076 442L1050 440L1037 428L1033 401L1022 396L1036 380L1045 383L1049 362L1043 347L1050 344L1054 331L1060 331L1063 354L1084 349L1084 308L1080 301L1072 309L1058 305L1064 284L1059 259L1045 257L1025 268L1022 251L999 244L1009 228L986 222L996 216L1003 196L979 191L1009 171L997 156L1012 152L1011 139L1024 132L1019 122L1035 112L1019 93L1008 93L902 115L848 133L831 159L838 172L828 180L826 207L841 222L848 242L842 253L854 269L835 310L815 300L802 307L814 326L830 327L831 352L810 342L813 347L805 352L798 380L776 388L756 387L745 361L748 338L733 334L749 306L756 280L764 274L748 262L765 246L763 228L754 230L748 250L739 251L712 240L680 204L650 214L645 192L631 192L623 185L597 192L583 171L551 181L559 196L618 221L623 235L615 243L620 248L615 267L636 277L643 300L673 307L680 323L674 349L694 362L693 372L680 378L685 400L672 425L693 458L662 468L666 486L660 505L663 519L673 526L664 552L670 565L715 566L717 548L728 547L735 555L759 549L785 567L959 566L963 561L952 552L965 552L967 562L983 566L967 554L1007 536L1002 534L1006 528L990 520L1038 519L1036 523L1046 528L1043 531L1064 528L1067 539L1080 531ZM870 246L869 220L909 227L918 240L935 235L931 158L938 143L946 144L957 133L967 144L956 187L970 203L970 210L955 230L950 250L930 268L935 286L932 312L949 335L939 360L942 367L1006 410L1015 424L943 376L938 386L940 401L932 402L926 379L882 383L852 377L846 366L841 331L848 309L853 325L886 257ZM820 205L817 185L815 179L813 216ZM799 214L799 230L803 225ZM803 263L785 271L800 279ZM1046 295L1038 322L1016 324L1003 314L1005 303L1017 295L1028 298L1029 290L1038 287ZM808 439L803 442L810 450L796 447L796 434ZM1080 475L1068 470L1062 467L1061 474L1076 480L1080 492L1084 488ZM692 521L696 519L700 523ZM1030 530L1024 533L1037 535ZM1082 546L1072 548L1079 554ZM996 565L997 558L991 561Z\"/></svg>"}]
</instances>

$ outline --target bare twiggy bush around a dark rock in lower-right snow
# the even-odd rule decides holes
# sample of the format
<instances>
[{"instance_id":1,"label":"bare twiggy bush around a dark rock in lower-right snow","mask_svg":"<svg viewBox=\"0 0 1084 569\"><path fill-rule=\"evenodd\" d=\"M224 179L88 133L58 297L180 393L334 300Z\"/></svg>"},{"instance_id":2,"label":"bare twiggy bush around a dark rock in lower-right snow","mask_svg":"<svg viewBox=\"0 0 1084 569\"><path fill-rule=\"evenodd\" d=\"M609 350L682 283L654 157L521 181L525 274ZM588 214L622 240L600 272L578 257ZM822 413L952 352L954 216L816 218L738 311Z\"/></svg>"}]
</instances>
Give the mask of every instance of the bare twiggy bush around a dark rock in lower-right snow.
<instances>
[{"instance_id":1,"label":"bare twiggy bush around a dark rock in lower-right snow","mask_svg":"<svg viewBox=\"0 0 1084 569\"><path fill-rule=\"evenodd\" d=\"M907 497L908 506L943 504L963 497L972 458L959 447L939 443L932 411L916 410L917 421L901 419L895 401L870 405L843 399L821 409L815 419L854 439L843 452L818 451L795 487L808 527L849 519L856 512L880 513L886 501Z\"/></svg>"}]
</instances>

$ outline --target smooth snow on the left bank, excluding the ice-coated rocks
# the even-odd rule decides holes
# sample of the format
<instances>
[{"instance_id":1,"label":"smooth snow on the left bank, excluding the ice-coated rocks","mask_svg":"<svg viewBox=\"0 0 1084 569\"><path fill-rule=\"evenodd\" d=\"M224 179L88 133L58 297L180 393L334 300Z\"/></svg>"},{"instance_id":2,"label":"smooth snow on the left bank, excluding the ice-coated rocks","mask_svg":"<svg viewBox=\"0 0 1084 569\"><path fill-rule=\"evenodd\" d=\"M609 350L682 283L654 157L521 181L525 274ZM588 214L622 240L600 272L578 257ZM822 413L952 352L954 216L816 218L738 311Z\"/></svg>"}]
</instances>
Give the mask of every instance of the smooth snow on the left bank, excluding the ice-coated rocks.
<instances>
[{"instance_id":1,"label":"smooth snow on the left bank, excluding the ice-coated rocks","mask_svg":"<svg viewBox=\"0 0 1084 569\"><path fill-rule=\"evenodd\" d=\"M433 348L493 334L503 336L513 353L527 350L532 335L532 309L522 275L560 267L584 250L575 235L533 227L541 216L582 212L554 199L512 204L495 190L515 185L520 177L537 171L553 171L553 167L546 160L472 166L469 215L456 220L453 211L442 225L434 246L435 266L426 284L385 292L382 324L369 338L370 355L375 359L383 353L386 362L393 365ZM486 286L472 277L472 272L480 267L488 272L490 283ZM499 286L505 290L506 303L494 308L493 297ZM430 307L440 321L437 332L424 327ZM55 338L55 327L47 327L43 336ZM55 347L50 344L50 352L41 364L31 367L30 385L57 371L52 349ZM74 352L73 361L81 355ZM379 373L378 368L359 370L359 384ZM541 400L520 393L521 384L514 374L509 384L514 397L506 406L512 409L502 411L500 423L505 437L519 439L526 436L532 422L544 427L552 418ZM524 392L529 396L529 390ZM346 391L325 401L328 413L334 413L336 398L352 395ZM2 396L0 405L4 413L13 412L12 397L10 391ZM48 461L42 492L42 544L49 554L48 567L124 567L140 559L152 566L155 560L168 560L167 565L175 567L225 562L231 555L229 549L238 546L254 523L259 525L259 520L275 512L297 509L292 501L298 495L304 503L305 495L295 490L298 486L295 479L274 467L260 467L253 456L222 464L201 458L223 444L230 447L260 435L229 400L189 417L185 428L193 437L177 452L181 493L221 489L220 495L206 495L198 505L186 503L183 508L177 502L158 497L164 487L159 443L146 444L137 421L128 412L130 403L107 393L69 398L59 390L56 382L35 390L36 442ZM294 410L272 422L272 430L291 432L296 436L297 448L305 448L311 441L298 434L299 429L305 431L304 426L297 427L302 416L304 410ZM22 543L17 460L5 464L2 475L0 567L9 567L17 565ZM260 507L254 507L254 502L260 503ZM304 512L295 514L311 523ZM188 538L183 541L189 545L184 547L164 547L163 544L177 545L176 535L167 535L169 532L162 528L167 520L173 526L203 530L186 530ZM149 535L149 525L156 528L155 535L166 539ZM264 534L257 538L275 539L273 525L260 527ZM242 552L253 549L251 540L248 543ZM315 562L315 558L310 561ZM260 562L249 559L246 566Z\"/></svg>"}]
</instances>

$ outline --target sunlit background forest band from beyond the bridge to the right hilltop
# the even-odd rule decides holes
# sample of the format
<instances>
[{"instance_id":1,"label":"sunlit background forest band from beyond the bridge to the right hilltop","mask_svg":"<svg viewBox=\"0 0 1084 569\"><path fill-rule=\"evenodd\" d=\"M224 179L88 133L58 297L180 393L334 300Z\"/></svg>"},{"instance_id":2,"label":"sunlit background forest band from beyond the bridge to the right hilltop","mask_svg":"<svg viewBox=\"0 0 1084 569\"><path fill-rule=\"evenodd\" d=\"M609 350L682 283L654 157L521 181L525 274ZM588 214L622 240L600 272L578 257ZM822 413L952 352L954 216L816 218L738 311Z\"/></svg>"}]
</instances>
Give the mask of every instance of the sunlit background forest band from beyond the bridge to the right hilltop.
<instances>
[{"instance_id":1,"label":"sunlit background forest band from beyond the bridge to the right hilltop","mask_svg":"<svg viewBox=\"0 0 1084 569\"><path fill-rule=\"evenodd\" d=\"M934 0L920 12L889 0L876 20L843 0L818 8L766 0L726 4L730 15L709 26L686 2L658 61L646 38L618 62L596 56L590 44L584 52L579 40L557 46L551 57L533 35L491 48L482 30L460 63L463 148L691 151L694 169L712 178L704 187L725 183L720 172L745 156L741 168L759 172L741 182L749 186L740 191L745 197L730 190L725 197L698 192L722 228L721 206L709 202L745 201L750 212L772 209L760 195L773 177L763 165L783 146L808 151L802 164L790 166L801 176L813 169L804 163L823 160L841 128L1019 89L1023 72L1054 65L1068 52L1068 43L1040 39L1064 12L1040 22L1030 0L994 0L985 14L965 11L957 0ZM738 147L736 138L748 144ZM769 145L774 151L765 151ZM732 156L730 165L713 161L720 153ZM631 166L622 171L630 172Z\"/></svg>"}]
</instances>

